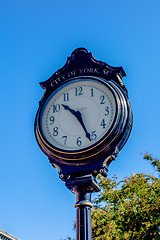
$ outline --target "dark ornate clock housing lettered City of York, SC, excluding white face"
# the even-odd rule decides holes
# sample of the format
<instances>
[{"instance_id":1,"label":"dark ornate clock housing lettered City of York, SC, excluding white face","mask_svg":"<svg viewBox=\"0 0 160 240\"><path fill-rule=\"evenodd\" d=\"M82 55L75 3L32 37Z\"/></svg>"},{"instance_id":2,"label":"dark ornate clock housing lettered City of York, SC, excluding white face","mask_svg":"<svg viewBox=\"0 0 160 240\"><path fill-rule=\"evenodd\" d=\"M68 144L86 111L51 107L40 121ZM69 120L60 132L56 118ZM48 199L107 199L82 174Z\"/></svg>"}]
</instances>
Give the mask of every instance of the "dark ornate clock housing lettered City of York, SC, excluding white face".
<instances>
[{"instance_id":1,"label":"dark ornate clock housing lettered City of York, SC, excluding white face","mask_svg":"<svg viewBox=\"0 0 160 240\"><path fill-rule=\"evenodd\" d=\"M64 180L69 175L99 172L104 174L110 162L126 143L132 128L133 114L128 100L128 92L122 82L125 72L122 67L111 67L97 61L85 48L73 51L64 67L55 72L47 81L40 83L45 90L35 119L35 136L41 150L50 163L59 170ZM106 85L116 101L116 117L110 130L95 145L82 150L60 150L50 144L43 135L40 117L45 102L63 84L74 79L94 79Z\"/></svg>"}]
</instances>

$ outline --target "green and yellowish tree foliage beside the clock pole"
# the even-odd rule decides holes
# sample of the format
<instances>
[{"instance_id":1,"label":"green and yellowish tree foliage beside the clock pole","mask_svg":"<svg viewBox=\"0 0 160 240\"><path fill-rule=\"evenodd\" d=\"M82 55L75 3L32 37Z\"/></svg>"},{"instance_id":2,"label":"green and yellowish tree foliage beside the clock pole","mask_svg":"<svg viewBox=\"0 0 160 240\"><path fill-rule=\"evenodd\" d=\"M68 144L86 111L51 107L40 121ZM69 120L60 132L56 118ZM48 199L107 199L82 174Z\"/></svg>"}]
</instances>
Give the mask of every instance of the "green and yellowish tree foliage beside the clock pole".
<instances>
[{"instance_id":1,"label":"green and yellowish tree foliage beside the clock pole","mask_svg":"<svg viewBox=\"0 0 160 240\"><path fill-rule=\"evenodd\" d=\"M99 177L102 191L92 211L93 240L160 239L160 161L144 154L157 172L155 176L133 174ZM158 177L157 177L158 176Z\"/></svg>"}]
</instances>

